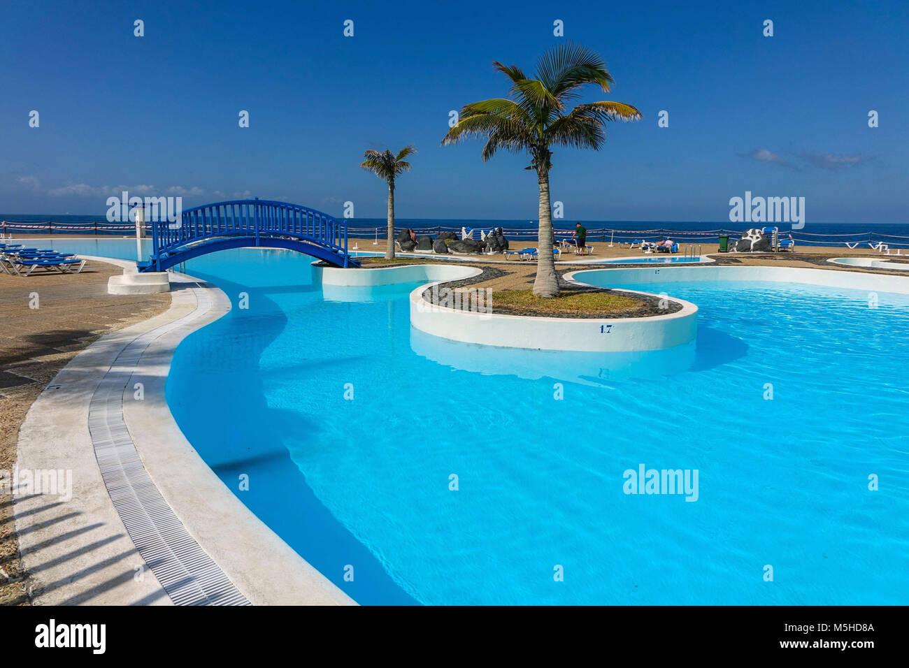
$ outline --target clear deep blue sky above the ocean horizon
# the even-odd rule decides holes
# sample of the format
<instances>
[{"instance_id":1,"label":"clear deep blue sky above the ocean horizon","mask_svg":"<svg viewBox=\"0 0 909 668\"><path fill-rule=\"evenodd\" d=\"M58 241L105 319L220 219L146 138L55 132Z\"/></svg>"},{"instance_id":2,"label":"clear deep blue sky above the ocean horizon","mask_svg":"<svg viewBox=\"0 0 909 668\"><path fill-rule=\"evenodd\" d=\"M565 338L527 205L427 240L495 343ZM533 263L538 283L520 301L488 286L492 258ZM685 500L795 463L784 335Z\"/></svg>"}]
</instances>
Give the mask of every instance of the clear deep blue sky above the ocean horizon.
<instances>
[{"instance_id":1,"label":"clear deep blue sky above the ocean horizon","mask_svg":"<svg viewBox=\"0 0 909 668\"><path fill-rule=\"evenodd\" d=\"M555 150L566 219L722 221L750 190L804 196L808 222L909 221L909 3L790 5L6 3L0 211L104 214L125 185L185 206L248 193L384 217L385 185L357 165L413 144L399 217L535 219L524 156L439 143L450 110L506 94L494 60L533 71L564 39L614 76L585 101L644 114L610 125L600 152Z\"/></svg>"}]
</instances>

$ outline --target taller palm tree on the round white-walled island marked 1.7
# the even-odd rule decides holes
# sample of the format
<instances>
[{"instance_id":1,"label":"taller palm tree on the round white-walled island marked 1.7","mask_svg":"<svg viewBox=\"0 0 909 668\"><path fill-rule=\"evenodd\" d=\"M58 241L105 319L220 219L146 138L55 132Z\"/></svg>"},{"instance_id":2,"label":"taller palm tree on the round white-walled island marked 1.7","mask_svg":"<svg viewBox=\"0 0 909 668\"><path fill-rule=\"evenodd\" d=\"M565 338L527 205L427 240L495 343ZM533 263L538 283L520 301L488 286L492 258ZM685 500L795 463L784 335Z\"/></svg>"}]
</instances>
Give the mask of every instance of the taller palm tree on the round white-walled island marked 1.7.
<instances>
[{"instance_id":1,"label":"taller palm tree on the round white-walled island marked 1.7","mask_svg":"<svg viewBox=\"0 0 909 668\"><path fill-rule=\"evenodd\" d=\"M483 160L504 148L527 152L532 158L526 169L536 170L540 193L539 258L534 294L554 297L559 293L553 258L553 218L549 204L549 171L552 145L599 150L606 140L605 122L639 120L641 113L621 102L593 102L567 111L579 89L588 84L609 90L613 77L594 52L580 45L555 46L536 64L536 78L528 79L515 65L493 63L511 79L509 99L484 100L465 105L443 145L456 144L465 137L485 137Z\"/></svg>"}]
</instances>

